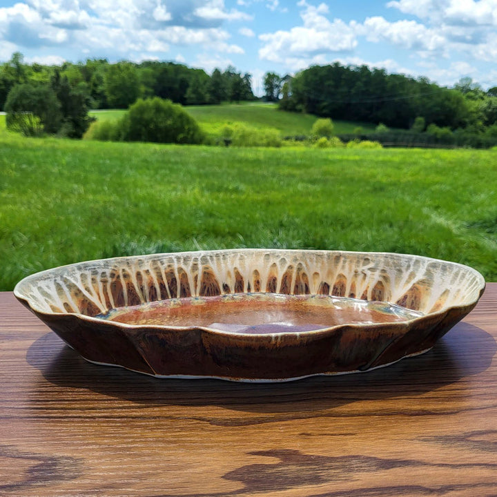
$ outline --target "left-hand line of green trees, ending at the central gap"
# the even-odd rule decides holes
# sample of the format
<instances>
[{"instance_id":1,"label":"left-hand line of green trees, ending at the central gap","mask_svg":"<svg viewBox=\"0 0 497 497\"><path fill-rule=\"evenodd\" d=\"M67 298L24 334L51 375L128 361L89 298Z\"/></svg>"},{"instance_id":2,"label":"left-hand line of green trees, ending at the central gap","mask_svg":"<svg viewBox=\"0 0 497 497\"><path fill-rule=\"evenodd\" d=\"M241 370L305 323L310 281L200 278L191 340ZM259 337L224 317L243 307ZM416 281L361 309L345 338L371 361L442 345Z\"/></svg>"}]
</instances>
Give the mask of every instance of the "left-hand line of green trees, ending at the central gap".
<instances>
[{"instance_id":1,"label":"left-hand line of green trees, ending at the central gap","mask_svg":"<svg viewBox=\"0 0 497 497\"><path fill-rule=\"evenodd\" d=\"M0 110L18 115L31 111L46 133L81 137L91 120L90 109L128 108L137 99L153 97L182 105L249 101L255 99L251 79L233 66L208 75L202 69L160 61L25 64L16 52L0 64Z\"/></svg>"}]
</instances>

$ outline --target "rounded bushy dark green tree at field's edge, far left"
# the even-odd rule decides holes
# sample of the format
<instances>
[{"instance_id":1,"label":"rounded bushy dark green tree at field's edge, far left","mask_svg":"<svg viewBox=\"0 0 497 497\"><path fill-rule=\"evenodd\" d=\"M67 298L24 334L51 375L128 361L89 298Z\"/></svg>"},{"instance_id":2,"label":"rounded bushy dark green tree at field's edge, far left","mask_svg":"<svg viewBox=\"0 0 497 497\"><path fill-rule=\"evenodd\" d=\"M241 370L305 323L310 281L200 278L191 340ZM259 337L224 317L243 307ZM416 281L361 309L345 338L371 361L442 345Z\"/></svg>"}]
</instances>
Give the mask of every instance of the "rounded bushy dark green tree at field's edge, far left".
<instances>
[{"instance_id":1,"label":"rounded bushy dark green tree at field's edge, far left","mask_svg":"<svg viewBox=\"0 0 497 497\"><path fill-rule=\"evenodd\" d=\"M16 85L6 105L7 128L26 136L57 133L61 124L60 104L49 86Z\"/></svg>"}]
</instances>

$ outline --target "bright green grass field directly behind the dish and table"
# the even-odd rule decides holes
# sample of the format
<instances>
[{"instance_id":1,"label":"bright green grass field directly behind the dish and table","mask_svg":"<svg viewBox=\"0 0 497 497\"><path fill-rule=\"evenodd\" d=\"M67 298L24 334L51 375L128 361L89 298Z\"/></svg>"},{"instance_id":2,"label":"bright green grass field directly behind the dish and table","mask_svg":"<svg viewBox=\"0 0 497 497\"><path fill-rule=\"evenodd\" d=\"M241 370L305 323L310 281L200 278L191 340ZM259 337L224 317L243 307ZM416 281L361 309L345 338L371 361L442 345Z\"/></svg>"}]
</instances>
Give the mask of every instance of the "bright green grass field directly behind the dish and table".
<instances>
[{"instance_id":1,"label":"bright green grass field directly behind the dish and table","mask_svg":"<svg viewBox=\"0 0 497 497\"><path fill-rule=\"evenodd\" d=\"M396 251L497 280L497 153L244 149L0 134L0 289L99 257Z\"/></svg>"}]
</instances>

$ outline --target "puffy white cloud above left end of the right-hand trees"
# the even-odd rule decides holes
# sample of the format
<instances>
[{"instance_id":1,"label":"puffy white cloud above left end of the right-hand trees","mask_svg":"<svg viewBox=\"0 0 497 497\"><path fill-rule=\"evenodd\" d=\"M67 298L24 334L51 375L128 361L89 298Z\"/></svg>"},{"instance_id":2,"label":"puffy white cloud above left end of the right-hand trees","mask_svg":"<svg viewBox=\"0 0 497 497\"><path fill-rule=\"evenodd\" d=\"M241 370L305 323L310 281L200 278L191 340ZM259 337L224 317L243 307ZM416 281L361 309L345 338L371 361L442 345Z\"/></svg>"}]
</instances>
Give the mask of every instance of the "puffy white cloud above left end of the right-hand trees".
<instances>
[{"instance_id":1,"label":"puffy white cloud above left end of the right-hand trees","mask_svg":"<svg viewBox=\"0 0 497 497\"><path fill-rule=\"evenodd\" d=\"M290 61L292 67L298 67L304 61L313 61L319 55L352 50L357 45L355 32L341 19L329 21L322 14L327 14L324 3L318 7L310 6L306 1L298 5L305 7L300 14L303 26L295 26L288 31L278 30L264 33L259 38L264 46L259 50L261 59L284 62Z\"/></svg>"}]
</instances>

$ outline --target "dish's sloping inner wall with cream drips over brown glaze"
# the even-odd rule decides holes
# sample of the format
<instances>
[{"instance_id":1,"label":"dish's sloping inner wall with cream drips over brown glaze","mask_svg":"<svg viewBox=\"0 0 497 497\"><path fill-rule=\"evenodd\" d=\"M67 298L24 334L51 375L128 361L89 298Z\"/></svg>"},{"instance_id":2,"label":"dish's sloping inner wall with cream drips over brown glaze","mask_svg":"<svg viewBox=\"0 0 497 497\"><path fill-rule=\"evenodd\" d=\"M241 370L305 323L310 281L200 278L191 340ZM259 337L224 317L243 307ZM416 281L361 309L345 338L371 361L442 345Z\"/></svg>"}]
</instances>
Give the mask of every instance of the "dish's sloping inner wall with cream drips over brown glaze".
<instances>
[{"instance_id":1,"label":"dish's sloping inner wall with cream drips over brown glaze","mask_svg":"<svg viewBox=\"0 0 497 497\"><path fill-rule=\"evenodd\" d=\"M389 302L422 314L476 303L485 280L462 264L396 253L240 249L117 257L26 277L40 313L95 317L162 300L266 293Z\"/></svg>"}]
</instances>

